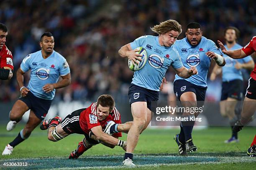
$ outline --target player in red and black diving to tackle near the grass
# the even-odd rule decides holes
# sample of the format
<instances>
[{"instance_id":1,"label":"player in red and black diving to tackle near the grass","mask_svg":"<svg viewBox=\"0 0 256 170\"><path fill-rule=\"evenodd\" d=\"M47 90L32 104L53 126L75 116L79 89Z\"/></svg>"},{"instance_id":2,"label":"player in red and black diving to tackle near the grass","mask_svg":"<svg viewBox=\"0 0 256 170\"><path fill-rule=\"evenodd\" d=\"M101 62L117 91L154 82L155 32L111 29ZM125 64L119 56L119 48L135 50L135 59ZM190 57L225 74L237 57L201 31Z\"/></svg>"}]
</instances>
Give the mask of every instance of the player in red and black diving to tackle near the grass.
<instances>
[{"instance_id":1,"label":"player in red and black diving to tackle near the grass","mask_svg":"<svg viewBox=\"0 0 256 170\"><path fill-rule=\"evenodd\" d=\"M107 125L108 121L113 123ZM87 108L75 110L63 121L59 116L44 120L40 128L41 130L48 129L48 139L54 142L73 133L84 135L83 141L79 142L77 149L69 155L69 159L77 159L86 150L99 143L110 148L120 146L126 150L126 142L118 139L122 137L121 133L110 136L109 132L108 134L104 133L106 131L103 132L103 130L109 131L108 126L114 123L121 123L120 114L115 108L115 101L110 95L101 95L97 102Z\"/></svg>"}]
</instances>

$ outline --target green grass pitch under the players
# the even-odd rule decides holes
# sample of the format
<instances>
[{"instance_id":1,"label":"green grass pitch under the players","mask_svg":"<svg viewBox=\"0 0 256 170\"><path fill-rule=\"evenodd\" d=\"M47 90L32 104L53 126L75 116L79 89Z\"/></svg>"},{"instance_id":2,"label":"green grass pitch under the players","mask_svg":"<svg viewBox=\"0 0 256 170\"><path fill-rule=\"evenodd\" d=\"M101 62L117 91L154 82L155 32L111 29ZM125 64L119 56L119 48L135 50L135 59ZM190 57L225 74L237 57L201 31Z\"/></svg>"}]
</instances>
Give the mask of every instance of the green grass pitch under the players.
<instances>
[{"instance_id":1,"label":"green grass pitch under the players","mask_svg":"<svg viewBox=\"0 0 256 170\"><path fill-rule=\"evenodd\" d=\"M0 126L1 152L22 129L7 132L5 125ZM246 156L248 146L256 133L255 128L244 128L239 133L239 143L225 144L230 137L230 128L212 127L194 130L193 140L198 147L197 153L181 157L173 136L178 129L145 130L135 150L134 163L140 170L180 169L255 169L256 158ZM93 146L77 160L69 160L69 153L77 148L83 135L69 135L59 142L47 140L47 131L38 128L30 138L16 146L12 155L0 155L0 169L125 169L122 168L124 151L120 147L110 149L104 145ZM126 140L126 134L122 137ZM4 163L27 163L28 166L4 166ZM126 168L127 169L127 168Z\"/></svg>"}]
</instances>

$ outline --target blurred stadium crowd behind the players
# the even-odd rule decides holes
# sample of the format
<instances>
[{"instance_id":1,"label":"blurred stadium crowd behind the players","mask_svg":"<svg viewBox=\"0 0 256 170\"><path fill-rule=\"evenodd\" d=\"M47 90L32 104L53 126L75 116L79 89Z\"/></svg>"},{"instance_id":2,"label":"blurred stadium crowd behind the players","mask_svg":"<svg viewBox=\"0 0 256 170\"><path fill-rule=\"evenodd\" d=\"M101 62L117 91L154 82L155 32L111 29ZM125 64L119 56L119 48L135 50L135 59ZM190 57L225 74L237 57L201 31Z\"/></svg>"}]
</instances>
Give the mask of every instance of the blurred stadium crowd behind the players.
<instances>
[{"instance_id":1,"label":"blurred stadium crowd behind the players","mask_svg":"<svg viewBox=\"0 0 256 170\"><path fill-rule=\"evenodd\" d=\"M40 49L42 33L53 33L55 50L67 59L72 75L71 85L57 90L55 101L90 100L104 93L126 101L133 72L118 55L121 45L155 35L150 27L170 18L183 30L187 23L200 23L203 36L216 44L224 42L225 27L235 26L241 31L238 43L246 45L256 33L250 4L252 0L13 0L1 2L0 21L8 26L6 45L15 72L26 55ZM183 31L178 39L184 36ZM166 79L174 79L172 69ZM0 81L0 90L0 101L17 99L15 73L12 80Z\"/></svg>"}]
</instances>

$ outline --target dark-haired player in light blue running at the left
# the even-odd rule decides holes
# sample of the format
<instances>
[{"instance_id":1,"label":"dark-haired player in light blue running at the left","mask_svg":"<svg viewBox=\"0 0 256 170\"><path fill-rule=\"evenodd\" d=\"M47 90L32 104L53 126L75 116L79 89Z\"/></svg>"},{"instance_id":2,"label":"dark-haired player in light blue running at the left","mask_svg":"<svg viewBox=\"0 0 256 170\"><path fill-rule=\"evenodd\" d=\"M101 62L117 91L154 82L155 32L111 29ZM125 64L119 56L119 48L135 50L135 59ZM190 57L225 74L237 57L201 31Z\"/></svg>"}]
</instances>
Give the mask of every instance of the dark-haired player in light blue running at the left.
<instances>
[{"instance_id":1,"label":"dark-haired player in light blue running at the left","mask_svg":"<svg viewBox=\"0 0 256 170\"><path fill-rule=\"evenodd\" d=\"M29 119L24 129L9 143L2 155L10 155L13 148L29 137L31 132L46 116L54 98L55 89L66 87L71 82L69 65L66 59L54 51L54 37L45 32L40 39L41 50L26 56L17 71L20 98L10 111L7 130L13 130L26 111L30 109ZM24 74L31 70L28 86L25 87ZM62 80L59 80L59 77Z\"/></svg>"}]
</instances>

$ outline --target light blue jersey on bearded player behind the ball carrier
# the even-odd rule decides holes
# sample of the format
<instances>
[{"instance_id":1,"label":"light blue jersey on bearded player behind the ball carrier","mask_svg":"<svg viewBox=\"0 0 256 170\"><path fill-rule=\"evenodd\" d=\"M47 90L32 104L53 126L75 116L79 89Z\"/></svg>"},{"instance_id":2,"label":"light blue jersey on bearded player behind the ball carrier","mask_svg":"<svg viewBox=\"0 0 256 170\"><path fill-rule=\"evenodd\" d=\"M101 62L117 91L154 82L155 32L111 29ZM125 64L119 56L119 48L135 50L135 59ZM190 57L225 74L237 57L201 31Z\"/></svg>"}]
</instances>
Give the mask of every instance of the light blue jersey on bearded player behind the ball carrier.
<instances>
[{"instance_id":1,"label":"light blue jersey on bearded player behind the ball carrier","mask_svg":"<svg viewBox=\"0 0 256 170\"><path fill-rule=\"evenodd\" d=\"M184 67L189 69L190 67L195 66L198 71L197 75L192 75L187 79L179 77L176 74L174 81L184 79L194 85L207 87L207 74L211 58L207 57L205 53L211 51L223 55L215 43L202 36L201 42L197 46L192 47L185 37L182 40L176 40L174 47L178 50Z\"/></svg>"}]
</instances>

